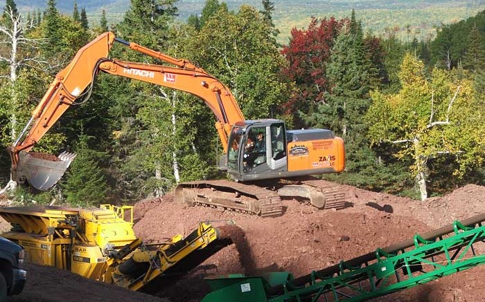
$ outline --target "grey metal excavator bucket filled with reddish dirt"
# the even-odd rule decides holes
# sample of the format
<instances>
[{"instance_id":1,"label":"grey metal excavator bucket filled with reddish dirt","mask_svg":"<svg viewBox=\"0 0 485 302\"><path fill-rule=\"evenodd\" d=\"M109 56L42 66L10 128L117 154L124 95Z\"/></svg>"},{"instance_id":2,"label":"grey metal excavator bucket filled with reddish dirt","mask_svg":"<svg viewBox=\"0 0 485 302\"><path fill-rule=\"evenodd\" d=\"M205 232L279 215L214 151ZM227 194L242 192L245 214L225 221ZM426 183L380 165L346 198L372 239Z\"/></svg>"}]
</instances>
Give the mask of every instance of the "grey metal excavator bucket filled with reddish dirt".
<instances>
[{"instance_id":1,"label":"grey metal excavator bucket filled with reddish dirt","mask_svg":"<svg viewBox=\"0 0 485 302\"><path fill-rule=\"evenodd\" d=\"M76 153L66 151L57 157L46 153L20 151L17 181L27 181L30 186L41 191L51 189L64 175L74 158Z\"/></svg>"}]
</instances>

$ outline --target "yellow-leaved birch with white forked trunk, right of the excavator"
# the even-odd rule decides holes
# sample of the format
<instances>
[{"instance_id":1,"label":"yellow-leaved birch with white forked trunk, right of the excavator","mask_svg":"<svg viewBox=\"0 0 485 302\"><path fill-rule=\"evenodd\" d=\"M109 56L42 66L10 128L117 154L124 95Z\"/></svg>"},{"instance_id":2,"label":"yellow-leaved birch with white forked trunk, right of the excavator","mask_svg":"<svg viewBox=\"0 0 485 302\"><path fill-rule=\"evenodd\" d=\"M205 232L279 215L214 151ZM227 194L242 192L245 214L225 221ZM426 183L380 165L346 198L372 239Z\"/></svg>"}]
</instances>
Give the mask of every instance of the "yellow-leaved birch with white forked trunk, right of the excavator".
<instances>
[{"instance_id":1,"label":"yellow-leaved birch with white forked trunk, right of the excavator","mask_svg":"<svg viewBox=\"0 0 485 302\"><path fill-rule=\"evenodd\" d=\"M430 160L448 156L457 164L457 178L483 163L484 108L473 97L469 80L438 68L427 79L423 62L412 55L405 55L399 79L398 93L372 94L369 135L373 144L398 145L395 155L412 160L409 169L425 200Z\"/></svg>"}]
</instances>

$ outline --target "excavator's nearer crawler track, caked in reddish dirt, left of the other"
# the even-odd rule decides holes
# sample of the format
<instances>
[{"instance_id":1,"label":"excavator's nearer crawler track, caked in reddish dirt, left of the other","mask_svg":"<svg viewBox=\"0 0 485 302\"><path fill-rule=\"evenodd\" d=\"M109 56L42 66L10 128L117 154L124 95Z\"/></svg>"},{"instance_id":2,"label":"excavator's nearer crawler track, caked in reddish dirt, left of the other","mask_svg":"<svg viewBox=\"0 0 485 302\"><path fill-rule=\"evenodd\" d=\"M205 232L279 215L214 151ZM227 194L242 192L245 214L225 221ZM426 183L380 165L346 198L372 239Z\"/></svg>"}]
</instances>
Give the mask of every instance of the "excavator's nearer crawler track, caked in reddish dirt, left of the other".
<instances>
[{"instance_id":1,"label":"excavator's nearer crawler track, caked in reddish dirt, left of the other","mask_svg":"<svg viewBox=\"0 0 485 302\"><path fill-rule=\"evenodd\" d=\"M281 198L276 191L229 180L184 182L175 188L175 198L190 206L222 207L261 217L283 214Z\"/></svg>"}]
</instances>

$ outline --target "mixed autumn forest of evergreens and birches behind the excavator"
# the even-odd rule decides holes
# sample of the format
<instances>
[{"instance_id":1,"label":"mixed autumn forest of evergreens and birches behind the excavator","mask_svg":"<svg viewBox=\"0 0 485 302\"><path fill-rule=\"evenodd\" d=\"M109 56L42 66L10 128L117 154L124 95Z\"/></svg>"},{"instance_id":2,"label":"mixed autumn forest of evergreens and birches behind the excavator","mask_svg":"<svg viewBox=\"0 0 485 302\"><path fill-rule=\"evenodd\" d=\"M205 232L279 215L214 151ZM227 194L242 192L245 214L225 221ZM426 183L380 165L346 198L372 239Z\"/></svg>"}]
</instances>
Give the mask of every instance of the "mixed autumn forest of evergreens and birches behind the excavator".
<instances>
[{"instance_id":1,"label":"mixed autumn forest of evergreens and birches behind the excavator","mask_svg":"<svg viewBox=\"0 0 485 302\"><path fill-rule=\"evenodd\" d=\"M346 169L324 178L424 200L468 183L484 185L485 11L442 25L432 40L373 35L362 19L313 17L278 39L274 3L260 8L207 0L177 19L176 0L131 0L116 24L103 12L22 14L6 0L0 19L0 142L17 140L59 70L102 32L187 59L227 85L247 120L279 118L289 129L324 128L344 139ZM152 5L155 4L155 5ZM91 25L90 25L91 24ZM155 59L115 45L111 57ZM100 73L35 145L77 153L61 182L40 193L17 187L19 202L130 203L177 182L226 178L215 118L197 97ZM0 183L10 179L0 153Z\"/></svg>"}]
</instances>

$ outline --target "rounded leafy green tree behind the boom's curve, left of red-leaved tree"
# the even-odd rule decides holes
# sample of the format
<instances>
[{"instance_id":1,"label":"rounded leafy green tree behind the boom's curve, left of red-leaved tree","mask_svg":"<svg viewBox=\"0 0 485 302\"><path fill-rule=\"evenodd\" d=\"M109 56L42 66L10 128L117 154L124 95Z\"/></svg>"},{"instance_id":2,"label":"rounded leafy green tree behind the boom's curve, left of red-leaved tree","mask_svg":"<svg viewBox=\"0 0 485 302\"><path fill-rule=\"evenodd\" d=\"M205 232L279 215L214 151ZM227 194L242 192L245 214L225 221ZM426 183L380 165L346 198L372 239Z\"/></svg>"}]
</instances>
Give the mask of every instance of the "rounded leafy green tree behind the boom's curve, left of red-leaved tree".
<instances>
[{"instance_id":1,"label":"rounded leafy green tree behind the boom's curve, left of red-leaved tree","mask_svg":"<svg viewBox=\"0 0 485 302\"><path fill-rule=\"evenodd\" d=\"M241 6L237 14L219 10L191 42L195 62L229 86L251 119L269 117L287 98L279 79L283 59L271 35L254 8Z\"/></svg>"}]
</instances>

